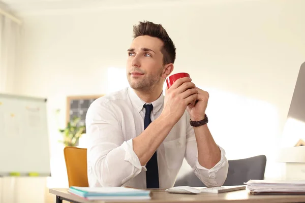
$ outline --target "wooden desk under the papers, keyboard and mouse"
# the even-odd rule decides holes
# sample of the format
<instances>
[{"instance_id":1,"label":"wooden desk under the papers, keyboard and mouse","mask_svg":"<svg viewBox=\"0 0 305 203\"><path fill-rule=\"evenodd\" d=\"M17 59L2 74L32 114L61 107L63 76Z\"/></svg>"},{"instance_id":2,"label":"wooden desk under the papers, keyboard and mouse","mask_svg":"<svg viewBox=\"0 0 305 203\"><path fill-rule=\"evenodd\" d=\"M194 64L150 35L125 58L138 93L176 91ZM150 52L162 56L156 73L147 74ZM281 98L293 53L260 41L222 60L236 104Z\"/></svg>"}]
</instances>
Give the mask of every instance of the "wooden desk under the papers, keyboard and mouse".
<instances>
[{"instance_id":1,"label":"wooden desk under the papers, keyboard and mouse","mask_svg":"<svg viewBox=\"0 0 305 203\"><path fill-rule=\"evenodd\" d=\"M151 200L137 200L135 202L305 202L305 195L253 195L248 190L238 190L220 194L170 194L164 190L151 190ZM67 200L74 203L114 203L120 201L88 201L76 195L68 193L68 189L49 189L49 192L56 195L56 203ZM126 201L131 202L131 201Z\"/></svg>"}]
</instances>

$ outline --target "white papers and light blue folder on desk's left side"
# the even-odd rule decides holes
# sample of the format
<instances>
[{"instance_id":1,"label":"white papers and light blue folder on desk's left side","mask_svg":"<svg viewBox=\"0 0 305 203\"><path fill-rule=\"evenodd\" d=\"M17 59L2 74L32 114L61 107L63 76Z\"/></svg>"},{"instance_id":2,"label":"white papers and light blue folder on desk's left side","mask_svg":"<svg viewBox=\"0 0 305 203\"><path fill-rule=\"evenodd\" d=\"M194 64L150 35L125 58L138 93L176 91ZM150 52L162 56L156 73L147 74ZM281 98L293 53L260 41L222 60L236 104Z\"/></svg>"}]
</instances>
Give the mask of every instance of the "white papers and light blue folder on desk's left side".
<instances>
[{"instance_id":1,"label":"white papers and light blue folder on desk's left side","mask_svg":"<svg viewBox=\"0 0 305 203\"><path fill-rule=\"evenodd\" d=\"M70 193L88 200L138 200L150 199L149 190L126 187L70 187Z\"/></svg>"}]
</instances>

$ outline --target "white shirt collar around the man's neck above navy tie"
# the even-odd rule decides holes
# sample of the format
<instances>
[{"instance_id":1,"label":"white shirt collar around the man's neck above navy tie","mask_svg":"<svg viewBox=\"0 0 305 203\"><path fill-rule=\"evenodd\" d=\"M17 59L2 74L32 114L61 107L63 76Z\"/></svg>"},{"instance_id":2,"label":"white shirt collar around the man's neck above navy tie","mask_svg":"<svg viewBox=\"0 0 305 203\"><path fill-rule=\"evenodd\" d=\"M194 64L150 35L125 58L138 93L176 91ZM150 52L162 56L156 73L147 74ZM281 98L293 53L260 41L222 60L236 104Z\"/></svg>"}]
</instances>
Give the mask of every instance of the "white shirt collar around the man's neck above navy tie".
<instances>
[{"instance_id":1,"label":"white shirt collar around the man's neck above navy tie","mask_svg":"<svg viewBox=\"0 0 305 203\"><path fill-rule=\"evenodd\" d=\"M132 105L134 106L134 108L136 108L138 112L142 111L143 106L145 104L152 104L154 106L153 114L157 113L163 106L163 102L164 102L163 91L159 96L159 98L153 101L152 103L145 103L145 101L143 101L131 87L128 87L128 95L132 101Z\"/></svg>"}]
</instances>

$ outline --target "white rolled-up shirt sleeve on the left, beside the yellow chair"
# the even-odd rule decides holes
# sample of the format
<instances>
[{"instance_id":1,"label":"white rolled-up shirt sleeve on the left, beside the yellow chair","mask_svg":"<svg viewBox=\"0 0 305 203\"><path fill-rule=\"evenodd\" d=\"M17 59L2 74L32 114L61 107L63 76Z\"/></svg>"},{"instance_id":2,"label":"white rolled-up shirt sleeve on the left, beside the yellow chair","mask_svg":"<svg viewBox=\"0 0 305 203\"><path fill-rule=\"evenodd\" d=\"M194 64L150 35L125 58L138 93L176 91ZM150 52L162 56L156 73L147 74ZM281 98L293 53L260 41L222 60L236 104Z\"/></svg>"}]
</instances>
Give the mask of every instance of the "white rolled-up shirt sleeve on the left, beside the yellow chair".
<instances>
[{"instance_id":1,"label":"white rolled-up shirt sleeve on the left, beside the yellow chair","mask_svg":"<svg viewBox=\"0 0 305 203\"><path fill-rule=\"evenodd\" d=\"M115 108L104 99L94 102L87 111L89 186L121 186L143 169L133 151L132 139L124 139Z\"/></svg>"}]
</instances>

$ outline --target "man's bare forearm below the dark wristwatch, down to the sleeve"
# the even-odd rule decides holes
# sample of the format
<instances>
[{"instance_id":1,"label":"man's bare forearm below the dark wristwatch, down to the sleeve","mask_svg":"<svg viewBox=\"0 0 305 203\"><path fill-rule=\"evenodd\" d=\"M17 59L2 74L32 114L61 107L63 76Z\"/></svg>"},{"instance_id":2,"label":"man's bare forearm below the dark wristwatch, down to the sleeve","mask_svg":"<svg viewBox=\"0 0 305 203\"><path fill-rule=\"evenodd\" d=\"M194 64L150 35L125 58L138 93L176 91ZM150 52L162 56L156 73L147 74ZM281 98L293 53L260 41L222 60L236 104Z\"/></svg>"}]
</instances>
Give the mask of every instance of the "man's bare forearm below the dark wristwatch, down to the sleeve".
<instances>
[{"instance_id":1,"label":"man's bare forearm below the dark wristwatch, down to the sleeve","mask_svg":"<svg viewBox=\"0 0 305 203\"><path fill-rule=\"evenodd\" d=\"M221 151L206 124L194 127L194 132L198 148L198 162L203 167L210 169L221 160Z\"/></svg>"}]
</instances>

